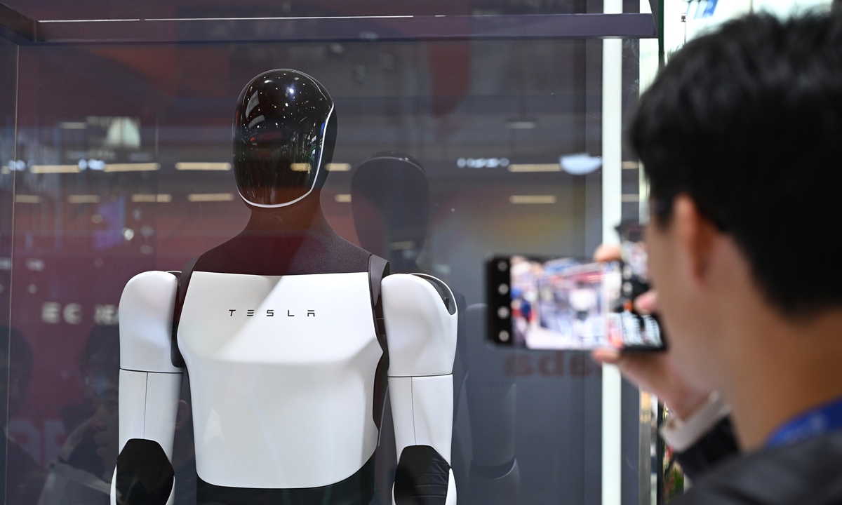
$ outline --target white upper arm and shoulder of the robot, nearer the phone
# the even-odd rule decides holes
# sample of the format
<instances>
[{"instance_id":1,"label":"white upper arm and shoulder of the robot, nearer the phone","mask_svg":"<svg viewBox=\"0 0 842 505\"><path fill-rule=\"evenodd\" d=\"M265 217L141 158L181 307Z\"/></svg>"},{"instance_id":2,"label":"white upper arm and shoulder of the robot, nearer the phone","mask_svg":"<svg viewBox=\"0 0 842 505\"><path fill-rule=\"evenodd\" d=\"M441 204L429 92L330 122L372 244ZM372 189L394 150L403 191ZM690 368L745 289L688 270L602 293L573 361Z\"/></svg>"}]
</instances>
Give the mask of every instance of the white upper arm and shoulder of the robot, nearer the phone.
<instances>
[{"instance_id":1,"label":"white upper arm and shoulder of the robot, nearer the phone","mask_svg":"<svg viewBox=\"0 0 842 505\"><path fill-rule=\"evenodd\" d=\"M424 274L392 274L381 285L389 376L450 374L458 315L447 284Z\"/></svg>"}]
</instances>

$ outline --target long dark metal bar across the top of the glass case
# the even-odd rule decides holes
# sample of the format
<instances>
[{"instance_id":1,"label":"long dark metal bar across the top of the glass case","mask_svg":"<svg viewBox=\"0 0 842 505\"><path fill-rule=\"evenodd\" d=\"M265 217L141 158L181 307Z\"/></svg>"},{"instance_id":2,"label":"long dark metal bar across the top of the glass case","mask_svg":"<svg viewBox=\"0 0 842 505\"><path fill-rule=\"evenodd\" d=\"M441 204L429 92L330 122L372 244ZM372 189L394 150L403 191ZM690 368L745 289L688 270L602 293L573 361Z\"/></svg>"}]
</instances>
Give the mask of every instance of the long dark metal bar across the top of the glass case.
<instances>
[{"instance_id":1,"label":"long dark metal bar across the top of the glass case","mask_svg":"<svg viewBox=\"0 0 842 505\"><path fill-rule=\"evenodd\" d=\"M0 4L21 45L655 38L652 14L312 16L35 21Z\"/></svg>"}]
</instances>

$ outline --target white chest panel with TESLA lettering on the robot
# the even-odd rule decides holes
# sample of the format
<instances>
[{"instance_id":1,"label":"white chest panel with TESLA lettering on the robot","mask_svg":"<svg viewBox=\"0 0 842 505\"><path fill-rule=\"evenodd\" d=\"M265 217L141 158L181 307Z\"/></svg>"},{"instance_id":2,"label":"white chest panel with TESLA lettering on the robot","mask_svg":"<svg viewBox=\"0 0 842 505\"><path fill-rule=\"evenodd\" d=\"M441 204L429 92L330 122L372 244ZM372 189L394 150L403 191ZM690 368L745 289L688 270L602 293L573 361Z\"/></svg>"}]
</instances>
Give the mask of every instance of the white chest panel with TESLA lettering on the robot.
<instances>
[{"instance_id":1,"label":"white chest panel with TESLA lettering on the robot","mask_svg":"<svg viewBox=\"0 0 842 505\"><path fill-rule=\"evenodd\" d=\"M327 486L374 453L369 277L194 272L179 322L196 470L217 486Z\"/></svg>"}]
</instances>

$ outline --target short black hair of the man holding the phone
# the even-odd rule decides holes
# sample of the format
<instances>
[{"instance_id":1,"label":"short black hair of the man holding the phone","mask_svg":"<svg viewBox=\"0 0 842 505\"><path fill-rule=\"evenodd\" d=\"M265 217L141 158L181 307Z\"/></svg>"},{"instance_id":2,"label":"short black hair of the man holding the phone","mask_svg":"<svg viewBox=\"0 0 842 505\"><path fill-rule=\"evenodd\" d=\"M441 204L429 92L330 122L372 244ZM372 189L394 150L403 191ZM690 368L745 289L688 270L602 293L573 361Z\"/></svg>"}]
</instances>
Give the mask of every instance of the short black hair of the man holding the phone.
<instances>
[{"instance_id":1,"label":"short black hair of the man holding the phone","mask_svg":"<svg viewBox=\"0 0 842 505\"><path fill-rule=\"evenodd\" d=\"M631 126L653 215L678 194L729 233L790 316L842 306L842 16L750 15L687 43Z\"/></svg>"}]
</instances>

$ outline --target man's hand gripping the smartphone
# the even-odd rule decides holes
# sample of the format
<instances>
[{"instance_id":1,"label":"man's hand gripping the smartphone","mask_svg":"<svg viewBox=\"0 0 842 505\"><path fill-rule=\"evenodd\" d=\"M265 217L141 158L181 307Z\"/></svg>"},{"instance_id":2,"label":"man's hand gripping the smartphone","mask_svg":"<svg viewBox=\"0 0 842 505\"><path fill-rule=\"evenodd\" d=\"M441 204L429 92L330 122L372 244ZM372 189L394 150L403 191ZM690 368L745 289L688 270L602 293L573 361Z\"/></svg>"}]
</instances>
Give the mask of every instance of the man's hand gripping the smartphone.
<instances>
[{"instance_id":1,"label":"man's hand gripping the smartphone","mask_svg":"<svg viewBox=\"0 0 842 505\"><path fill-rule=\"evenodd\" d=\"M619 246L603 244L594 253L594 261L617 261L620 258ZM640 314L656 313L658 295L655 290L648 291L634 300L634 306ZM612 349L595 349L592 356L598 363L616 364L627 380L658 396L681 419L693 415L711 394L711 391L702 391L685 380L669 352L621 354Z\"/></svg>"}]
</instances>

